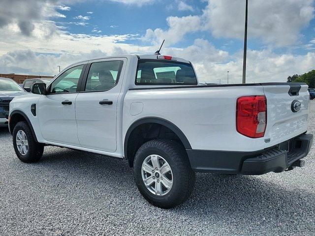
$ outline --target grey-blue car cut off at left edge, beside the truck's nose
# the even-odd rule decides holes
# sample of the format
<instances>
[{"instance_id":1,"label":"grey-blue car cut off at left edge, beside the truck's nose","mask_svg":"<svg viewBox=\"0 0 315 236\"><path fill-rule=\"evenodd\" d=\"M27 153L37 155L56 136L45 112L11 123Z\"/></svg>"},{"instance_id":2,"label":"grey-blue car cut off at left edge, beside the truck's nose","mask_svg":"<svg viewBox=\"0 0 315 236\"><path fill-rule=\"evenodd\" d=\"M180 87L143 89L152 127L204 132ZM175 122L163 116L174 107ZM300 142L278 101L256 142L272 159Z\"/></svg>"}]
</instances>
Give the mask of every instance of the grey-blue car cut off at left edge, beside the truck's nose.
<instances>
[{"instance_id":1,"label":"grey-blue car cut off at left edge, beside the truck's nose","mask_svg":"<svg viewBox=\"0 0 315 236\"><path fill-rule=\"evenodd\" d=\"M0 127L8 125L9 103L16 96L27 94L14 80L0 77Z\"/></svg>"}]
</instances>

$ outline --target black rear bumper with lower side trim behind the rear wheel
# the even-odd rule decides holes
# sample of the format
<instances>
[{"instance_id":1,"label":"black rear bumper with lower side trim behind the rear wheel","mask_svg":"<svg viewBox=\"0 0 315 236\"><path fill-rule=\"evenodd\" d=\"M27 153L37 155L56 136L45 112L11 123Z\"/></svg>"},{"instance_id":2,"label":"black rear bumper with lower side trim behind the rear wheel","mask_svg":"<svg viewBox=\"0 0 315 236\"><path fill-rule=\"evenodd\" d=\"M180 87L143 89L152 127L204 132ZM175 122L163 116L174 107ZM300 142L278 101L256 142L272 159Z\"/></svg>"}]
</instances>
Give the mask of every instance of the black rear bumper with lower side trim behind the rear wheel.
<instances>
[{"instance_id":1,"label":"black rear bumper with lower side trim behind the rear wheel","mask_svg":"<svg viewBox=\"0 0 315 236\"><path fill-rule=\"evenodd\" d=\"M283 172L305 157L313 144L312 134L302 134L277 147L253 152L187 149L195 172L262 175Z\"/></svg>"}]
</instances>

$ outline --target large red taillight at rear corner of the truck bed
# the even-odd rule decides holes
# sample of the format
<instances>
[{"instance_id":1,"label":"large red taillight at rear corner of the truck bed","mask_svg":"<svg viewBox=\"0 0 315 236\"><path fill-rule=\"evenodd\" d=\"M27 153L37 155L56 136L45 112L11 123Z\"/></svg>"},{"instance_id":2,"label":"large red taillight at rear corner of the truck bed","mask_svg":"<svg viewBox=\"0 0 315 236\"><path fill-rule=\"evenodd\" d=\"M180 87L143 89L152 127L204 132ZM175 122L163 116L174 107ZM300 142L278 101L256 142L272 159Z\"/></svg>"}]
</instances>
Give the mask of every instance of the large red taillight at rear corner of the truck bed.
<instances>
[{"instance_id":1,"label":"large red taillight at rear corner of the truck bed","mask_svg":"<svg viewBox=\"0 0 315 236\"><path fill-rule=\"evenodd\" d=\"M265 135L267 125L266 96L239 97L236 102L237 132L250 138L261 138Z\"/></svg>"}]
</instances>

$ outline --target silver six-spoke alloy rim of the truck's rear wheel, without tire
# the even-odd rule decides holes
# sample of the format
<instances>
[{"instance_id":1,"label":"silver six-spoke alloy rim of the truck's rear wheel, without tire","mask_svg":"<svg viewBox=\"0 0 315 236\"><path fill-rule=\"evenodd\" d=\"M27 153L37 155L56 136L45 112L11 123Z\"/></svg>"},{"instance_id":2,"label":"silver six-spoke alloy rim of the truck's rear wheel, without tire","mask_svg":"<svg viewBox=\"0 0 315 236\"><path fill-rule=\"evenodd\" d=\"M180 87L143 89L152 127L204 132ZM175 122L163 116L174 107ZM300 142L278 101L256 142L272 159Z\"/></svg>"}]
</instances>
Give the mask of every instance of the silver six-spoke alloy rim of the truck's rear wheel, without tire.
<instances>
[{"instance_id":1,"label":"silver six-spoke alloy rim of the truck's rear wheel, without tire","mask_svg":"<svg viewBox=\"0 0 315 236\"><path fill-rule=\"evenodd\" d=\"M171 167L159 155L150 155L143 161L141 174L145 186L154 195L164 196L173 186Z\"/></svg>"}]
</instances>

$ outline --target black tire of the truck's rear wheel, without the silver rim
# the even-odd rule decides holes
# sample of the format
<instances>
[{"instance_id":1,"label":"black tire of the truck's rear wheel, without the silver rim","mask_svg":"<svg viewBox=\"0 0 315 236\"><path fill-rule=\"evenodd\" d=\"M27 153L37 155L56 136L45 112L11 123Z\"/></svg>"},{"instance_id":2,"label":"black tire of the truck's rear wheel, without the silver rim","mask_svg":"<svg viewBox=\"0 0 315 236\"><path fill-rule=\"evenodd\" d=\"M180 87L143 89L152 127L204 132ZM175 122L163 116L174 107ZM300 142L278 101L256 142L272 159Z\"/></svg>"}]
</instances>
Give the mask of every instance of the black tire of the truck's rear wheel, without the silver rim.
<instances>
[{"instance_id":1,"label":"black tire of the truck's rear wheel, without the silver rim","mask_svg":"<svg viewBox=\"0 0 315 236\"><path fill-rule=\"evenodd\" d=\"M171 167L173 185L164 196L151 193L142 180L142 163L150 155L163 157ZM185 202L193 191L195 173L192 171L185 148L176 141L156 139L143 144L134 159L134 178L142 196L152 205L171 208Z\"/></svg>"}]
</instances>

